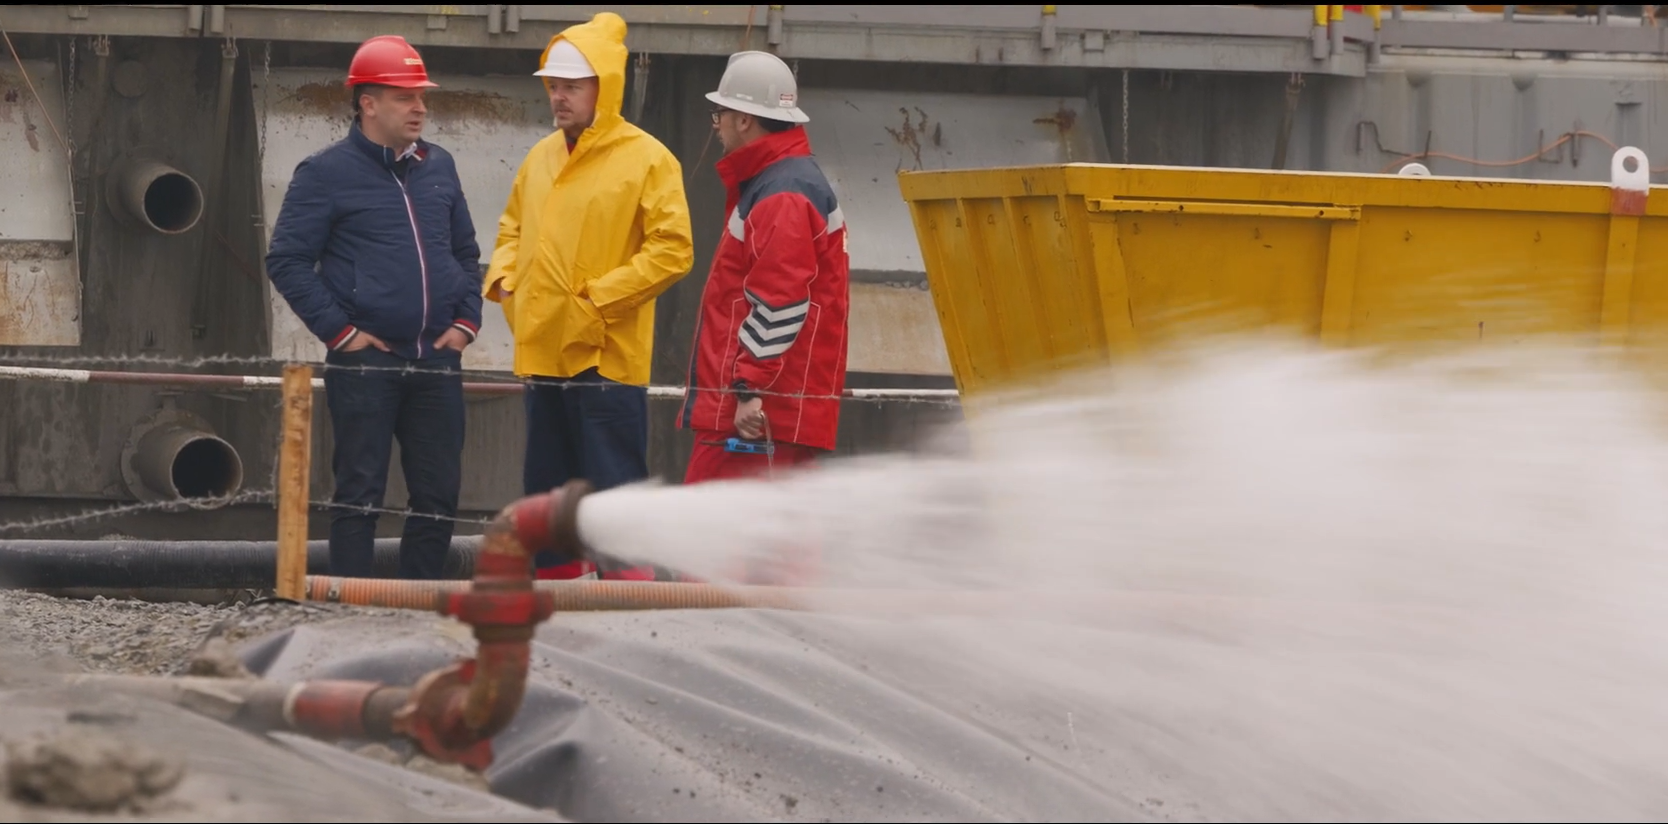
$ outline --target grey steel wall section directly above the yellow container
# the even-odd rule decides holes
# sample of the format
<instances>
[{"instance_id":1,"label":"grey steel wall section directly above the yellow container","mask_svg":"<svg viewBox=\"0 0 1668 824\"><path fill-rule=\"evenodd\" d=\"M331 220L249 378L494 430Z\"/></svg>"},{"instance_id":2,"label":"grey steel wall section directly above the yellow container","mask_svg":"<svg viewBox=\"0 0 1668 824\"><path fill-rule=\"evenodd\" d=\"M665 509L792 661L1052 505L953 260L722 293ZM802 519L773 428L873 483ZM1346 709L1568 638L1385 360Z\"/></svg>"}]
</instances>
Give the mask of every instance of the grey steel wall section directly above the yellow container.
<instances>
[{"instance_id":1,"label":"grey steel wall section directly above the yellow container","mask_svg":"<svg viewBox=\"0 0 1668 824\"><path fill-rule=\"evenodd\" d=\"M1114 160L1124 145L1123 73L1098 82ZM1364 78L1129 72L1133 163L1273 168L1296 100L1284 168L1608 180L1616 145L1665 182L1668 62L1386 53ZM1424 157L1429 155L1429 157Z\"/></svg>"}]
</instances>

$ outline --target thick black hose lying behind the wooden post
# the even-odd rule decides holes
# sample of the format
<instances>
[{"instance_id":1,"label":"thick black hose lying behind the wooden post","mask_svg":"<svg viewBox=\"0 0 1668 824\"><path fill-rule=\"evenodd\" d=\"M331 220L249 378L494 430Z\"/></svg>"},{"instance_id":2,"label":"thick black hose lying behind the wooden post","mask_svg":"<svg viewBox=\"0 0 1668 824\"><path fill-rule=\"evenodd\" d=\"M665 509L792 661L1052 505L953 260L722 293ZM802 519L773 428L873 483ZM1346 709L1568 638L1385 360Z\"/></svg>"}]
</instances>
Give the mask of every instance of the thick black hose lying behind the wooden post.
<instances>
[{"instance_id":1,"label":"thick black hose lying behind the wooden post","mask_svg":"<svg viewBox=\"0 0 1668 824\"><path fill-rule=\"evenodd\" d=\"M399 577L399 539L377 539L375 577ZM475 574L480 535L452 539L445 577ZM274 540L0 540L5 589L272 589ZM307 574L330 574L330 544L307 542Z\"/></svg>"}]
</instances>

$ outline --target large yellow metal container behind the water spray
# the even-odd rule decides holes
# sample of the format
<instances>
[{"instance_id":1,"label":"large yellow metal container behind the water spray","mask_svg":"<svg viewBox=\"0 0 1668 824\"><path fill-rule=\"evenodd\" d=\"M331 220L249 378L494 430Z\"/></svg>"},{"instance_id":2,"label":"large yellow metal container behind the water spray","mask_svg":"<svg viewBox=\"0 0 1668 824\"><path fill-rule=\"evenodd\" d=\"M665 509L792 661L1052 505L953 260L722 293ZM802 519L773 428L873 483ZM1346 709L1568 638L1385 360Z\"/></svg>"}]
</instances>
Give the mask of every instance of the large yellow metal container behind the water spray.
<instances>
[{"instance_id":1,"label":"large yellow metal container behind the water spray","mask_svg":"<svg viewBox=\"0 0 1668 824\"><path fill-rule=\"evenodd\" d=\"M1668 339L1668 198L1643 152L1611 160L1611 183L1069 163L899 185L971 395L1201 332Z\"/></svg>"}]
</instances>

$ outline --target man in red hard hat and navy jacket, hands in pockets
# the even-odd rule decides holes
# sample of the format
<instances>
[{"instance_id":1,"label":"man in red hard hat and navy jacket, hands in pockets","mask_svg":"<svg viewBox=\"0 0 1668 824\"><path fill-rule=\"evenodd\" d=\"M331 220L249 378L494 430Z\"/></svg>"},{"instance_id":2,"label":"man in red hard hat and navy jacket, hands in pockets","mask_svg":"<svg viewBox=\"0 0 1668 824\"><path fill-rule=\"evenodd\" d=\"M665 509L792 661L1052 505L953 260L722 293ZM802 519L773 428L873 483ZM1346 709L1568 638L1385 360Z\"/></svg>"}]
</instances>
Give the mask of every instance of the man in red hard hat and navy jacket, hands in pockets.
<instances>
[{"instance_id":1,"label":"man in red hard hat and navy jacket, hands in pockets","mask_svg":"<svg viewBox=\"0 0 1668 824\"><path fill-rule=\"evenodd\" d=\"M267 274L327 347L335 440L330 574L370 577L394 440L410 494L404 579L439 579L464 452L462 354L480 330L480 247L457 165L422 140L422 57L365 40L347 72L347 137L295 167Z\"/></svg>"}]
</instances>

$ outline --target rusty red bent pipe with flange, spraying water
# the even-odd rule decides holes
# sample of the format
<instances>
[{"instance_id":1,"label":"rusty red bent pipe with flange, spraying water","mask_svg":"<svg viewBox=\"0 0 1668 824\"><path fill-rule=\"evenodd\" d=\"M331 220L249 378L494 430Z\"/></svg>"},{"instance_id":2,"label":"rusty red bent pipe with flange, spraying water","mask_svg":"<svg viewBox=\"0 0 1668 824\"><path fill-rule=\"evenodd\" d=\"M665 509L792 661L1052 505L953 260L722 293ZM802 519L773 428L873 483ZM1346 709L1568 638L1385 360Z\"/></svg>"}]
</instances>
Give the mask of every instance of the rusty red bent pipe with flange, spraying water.
<instances>
[{"instance_id":1,"label":"rusty red bent pipe with flange, spraying water","mask_svg":"<svg viewBox=\"0 0 1668 824\"><path fill-rule=\"evenodd\" d=\"M532 554L555 552L562 560L582 557L572 515L585 492L589 487L582 480L574 482L517 500L492 520L469 590L444 592L432 602L432 609L474 627L475 657L430 672L412 687L365 681L279 686L117 677L95 682L157 696L252 729L285 729L327 741L400 736L435 761L484 771L492 764L492 737L520 709L534 629L555 609L554 595L532 585Z\"/></svg>"}]
</instances>

